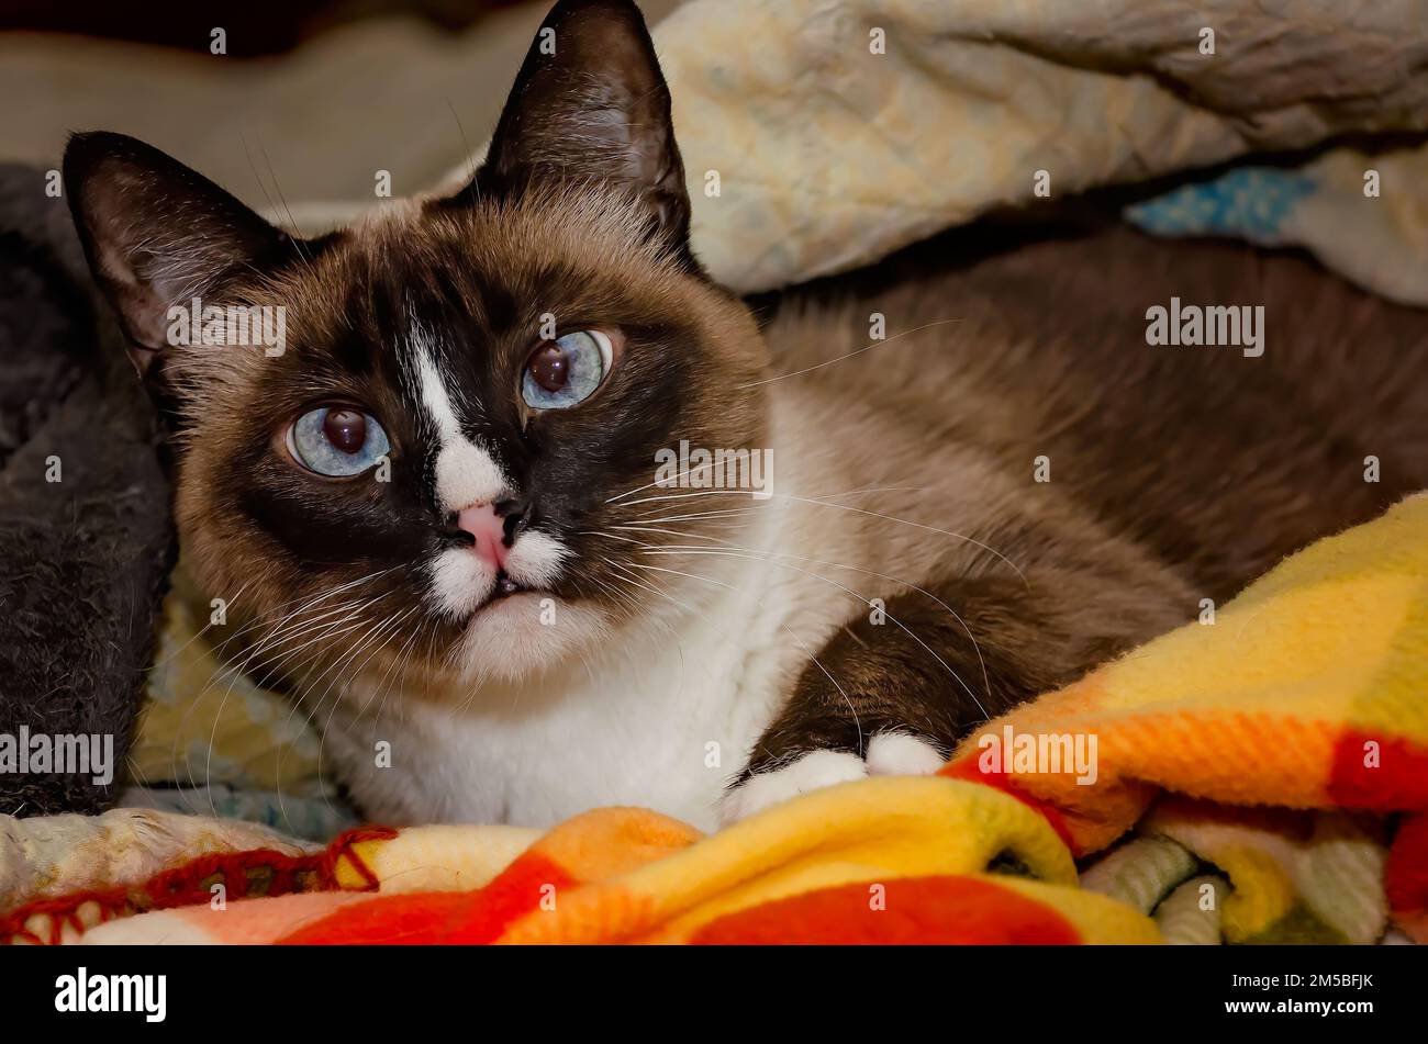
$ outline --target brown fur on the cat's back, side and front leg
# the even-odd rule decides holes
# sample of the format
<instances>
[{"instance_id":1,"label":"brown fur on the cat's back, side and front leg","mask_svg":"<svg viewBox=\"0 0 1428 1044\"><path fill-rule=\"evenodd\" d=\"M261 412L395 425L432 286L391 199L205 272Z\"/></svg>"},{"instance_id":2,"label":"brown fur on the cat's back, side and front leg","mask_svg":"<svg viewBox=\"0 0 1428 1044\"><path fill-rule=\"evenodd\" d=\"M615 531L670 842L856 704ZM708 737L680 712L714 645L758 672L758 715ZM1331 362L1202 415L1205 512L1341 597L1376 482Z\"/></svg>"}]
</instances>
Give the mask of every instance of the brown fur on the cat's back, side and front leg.
<instances>
[{"instance_id":1,"label":"brown fur on the cat's back, side and front leg","mask_svg":"<svg viewBox=\"0 0 1428 1044\"><path fill-rule=\"evenodd\" d=\"M767 335L780 371L798 372L865 348L868 315L883 312L887 344L787 384L877 432L841 462L850 488L922 486L865 506L977 538L1022 576L955 541L910 549L891 572L921 578L921 590L901 585L887 603L905 628L857 612L803 673L751 770L814 747L863 752L887 729L948 747L987 713L1192 619L1200 599L1222 602L1428 485L1417 312L1295 257L1124 230L970 268L935 260L971 238L891 261L884 288L855 304L847 295L865 277L788 295ZM1265 355L1148 347L1145 309L1172 295L1262 304ZM1048 483L1032 481L1041 455ZM1365 481L1368 455L1378 482ZM868 542L897 528L860 525Z\"/></svg>"}]
</instances>

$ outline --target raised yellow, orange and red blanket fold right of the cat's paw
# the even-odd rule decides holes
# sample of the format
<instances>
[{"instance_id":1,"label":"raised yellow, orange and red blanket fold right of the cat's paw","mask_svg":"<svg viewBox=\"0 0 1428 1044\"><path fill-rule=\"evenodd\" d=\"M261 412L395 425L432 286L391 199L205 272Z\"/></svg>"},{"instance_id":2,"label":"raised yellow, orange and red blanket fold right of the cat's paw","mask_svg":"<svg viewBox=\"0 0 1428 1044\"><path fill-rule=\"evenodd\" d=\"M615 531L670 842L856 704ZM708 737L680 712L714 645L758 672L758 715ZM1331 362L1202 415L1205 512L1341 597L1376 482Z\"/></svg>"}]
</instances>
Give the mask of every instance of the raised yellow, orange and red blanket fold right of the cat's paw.
<instances>
[{"instance_id":1,"label":"raised yellow, orange and red blanket fold right of the cat's paw","mask_svg":"<svg viewBox=\"0 0 1428 1044\"><path fill-rule=\"evenodd\" d=\"M1008 764L1008 737L1058 763ZM1061 753L1092 740L1085 784ZM1132 843L1088 884L1150 911L1212 864L1232 887L1205 911L1225 941L1372 941L1389 909L1428 938L1428 496L988 723L945 772L1031 802L1077 854L1164 792L1201 799L1162 800L1140 826L1181 856Z\"/></svg>"}]
</instances>

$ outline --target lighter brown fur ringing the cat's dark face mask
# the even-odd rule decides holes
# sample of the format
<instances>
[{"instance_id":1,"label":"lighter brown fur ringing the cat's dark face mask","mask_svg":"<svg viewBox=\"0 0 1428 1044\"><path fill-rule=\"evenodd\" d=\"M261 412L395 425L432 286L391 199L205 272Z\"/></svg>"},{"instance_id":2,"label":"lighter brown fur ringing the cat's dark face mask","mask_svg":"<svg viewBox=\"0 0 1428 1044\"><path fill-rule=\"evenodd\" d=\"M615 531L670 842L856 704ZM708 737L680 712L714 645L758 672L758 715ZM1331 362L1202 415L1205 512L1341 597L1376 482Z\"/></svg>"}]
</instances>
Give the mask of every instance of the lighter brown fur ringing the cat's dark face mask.
<instances>
[{"instance_id":1,"label":"lighter brown fur ringing the cat's dark face mask","mask_svg":"<svg viewBox=\"0 0 1428 1044\"><path fill-rule=\"evenodd\" d=\"M538 254L528 250L530 242L541 244ZM458 264L451 264L453 258ZM678 271L667 255L643 241L621 195L585 187L533 193L510 205L484 201L464 210L398 205L337 237L311 264L294 265L278 280L243 284L233 291L233 298L246 304L290 302L288 338L296 348L283 358L268 359L261 351L204 354L198 348L193 361L171 364L181 374L186 418L181 429L186 452L180 456L177 483L183 546L207 590L243 592L234 609L236 622L246 625L246 630L228 652L271 645L278 623L293 626L291 620L284 622L288 610L354 580L368 565L320 565L294 558L256 531L240 503L243 482L234 481L233 461L254 442L274 441L274 432L304 402L333 396L334 387L340 389L338 398L368 404L383 416L400 415L404 405L394 399L390 385L353 381L331 359L328 347L361 322L351 311L354 288L374 281L423 281L433 272L451 280L444 290L454 292L491 337L494 368L513 375L537 342L540 314L548 308L565 315L618 315L623 325L633 328L678 331L680 339L700 342L708 359L690 371L693 384L681 391L688 406L684 436L717 446L767 442L763 399L728 392L758 379L765 364L753 318L728 295ZM521 308L504 337L503 331L490 331L483 318L493 284ZM635 347L623 365L630 372L621 379L640 381L640 371L658 368L664 361L657 351ZM403 449L396 446L398 455ZM648 458L630 466L640 478L630 485L648 481ZM724 506L743 506L743 501L730 495ZM620 505L608 513L618 516ZM591 518L590 523L600 519ZM655 543L674 539L651 535ZM637 608L628 598L611 593L617 579L601 558L591 555L583 559L570 593L598 603L620 623ZM373 606L373 625L386 619L394 605L407 608L420 598L420 589L406 590L410 582L410 576L398 573L364 592L373 596L400 592L396 602ZM327 612L331 605L320 602L311 615ZM406 679L408 692L466 699L461 689L450 685L460 669L448 659L463 623L433 623L420 635L416 652L394 639L360 666L368 673L388 675L401 652L417 672ZM336 663L357 666L353 649L370 630L348 625L317 649L300 642L278 645L268 657L274 673L267 677L294 687L300 687L303 676L327 682ZM293 649L301 649L303 659L294 662L288 656ZM264 666L261 652L251 666ZM298 676L288 676L294 670ZM403 685L400 675L394 683Z\"/></svg>"}]
</instances>

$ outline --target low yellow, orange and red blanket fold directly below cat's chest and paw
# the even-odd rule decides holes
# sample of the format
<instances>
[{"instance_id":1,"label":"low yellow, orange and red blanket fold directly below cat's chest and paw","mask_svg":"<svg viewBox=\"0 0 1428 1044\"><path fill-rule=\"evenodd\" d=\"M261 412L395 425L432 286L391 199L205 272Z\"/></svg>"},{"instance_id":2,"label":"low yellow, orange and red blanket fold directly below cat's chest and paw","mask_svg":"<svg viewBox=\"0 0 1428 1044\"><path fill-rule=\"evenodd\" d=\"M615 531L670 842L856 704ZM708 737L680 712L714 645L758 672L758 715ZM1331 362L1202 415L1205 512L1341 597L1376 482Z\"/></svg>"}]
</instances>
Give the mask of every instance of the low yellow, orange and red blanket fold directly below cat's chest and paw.
<instances>
[{"instance_id":1,"label":"low yellow, orange and red blanket fold directly below cat's chest and paw","mask_svg":"<svg viewBox=\"0 0 1428 1044\"><path fill-rule=\"evenodd\" d=\"M481 883L514 839L498 827L348 836L301 864L326 891L187 904L86 941L1158 941L1150 918L1075 887L1045 820L960 780L834 787L710 837L653 812L601 809L536 840L484 887L431 890L460 886L457 867L467 886ZM987 873L1000 867L1017 876ZM187 871L184 889L211 870ZM27 923L43 937L43 918Z\"/></svg>"}]
</instances>

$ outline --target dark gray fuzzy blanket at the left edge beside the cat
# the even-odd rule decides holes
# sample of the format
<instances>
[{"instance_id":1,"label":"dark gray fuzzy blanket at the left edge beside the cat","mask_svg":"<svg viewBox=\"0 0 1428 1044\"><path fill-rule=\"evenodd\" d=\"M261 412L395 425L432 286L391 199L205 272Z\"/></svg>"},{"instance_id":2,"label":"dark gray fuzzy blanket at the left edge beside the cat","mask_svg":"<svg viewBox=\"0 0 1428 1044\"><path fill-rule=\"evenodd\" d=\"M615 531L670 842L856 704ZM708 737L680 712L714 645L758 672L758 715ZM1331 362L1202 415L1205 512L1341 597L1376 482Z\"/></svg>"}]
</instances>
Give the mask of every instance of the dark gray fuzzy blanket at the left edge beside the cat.
<instances>
[{"instance_id":1,"label":"dark gray fuzzy blanket at the left edge beside the cat","mask_svg":"<svg viewBox=\"0 0 1428 1044\"><path fill-rule=\"evenodd\" d=\"M0 813L114 804L173 559L161 445L66 201L0 165ZM111 764L17 757L71 736Z\"/></svg>"}]
</instances>

